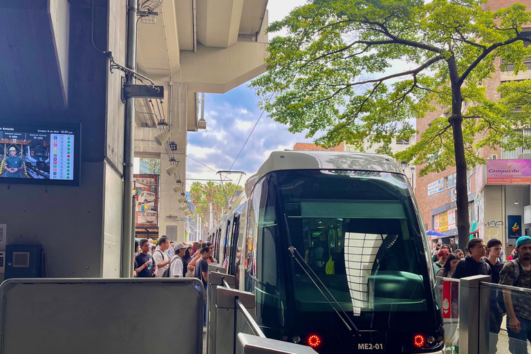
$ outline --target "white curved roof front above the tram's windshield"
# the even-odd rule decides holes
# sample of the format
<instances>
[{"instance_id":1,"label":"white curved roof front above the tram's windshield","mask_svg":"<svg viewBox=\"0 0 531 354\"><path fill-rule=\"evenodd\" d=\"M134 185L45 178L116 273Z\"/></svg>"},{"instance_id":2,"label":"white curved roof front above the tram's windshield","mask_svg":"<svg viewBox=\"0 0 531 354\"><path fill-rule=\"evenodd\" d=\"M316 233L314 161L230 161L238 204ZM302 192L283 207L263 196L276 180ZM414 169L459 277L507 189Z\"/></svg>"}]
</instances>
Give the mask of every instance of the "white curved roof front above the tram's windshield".
<instances>
[{"instance_id":1,"label":"white curved roof front above the tram's windshield","mask_svg":"<svg viewBox=\"0 0 531 354\"><path fill-rule=\"evenodd\" d=\"M273 151L257 172L256 180L285 169L355 169L404 174L390 156L342 151Z\"/></svg>"}]
</instances>

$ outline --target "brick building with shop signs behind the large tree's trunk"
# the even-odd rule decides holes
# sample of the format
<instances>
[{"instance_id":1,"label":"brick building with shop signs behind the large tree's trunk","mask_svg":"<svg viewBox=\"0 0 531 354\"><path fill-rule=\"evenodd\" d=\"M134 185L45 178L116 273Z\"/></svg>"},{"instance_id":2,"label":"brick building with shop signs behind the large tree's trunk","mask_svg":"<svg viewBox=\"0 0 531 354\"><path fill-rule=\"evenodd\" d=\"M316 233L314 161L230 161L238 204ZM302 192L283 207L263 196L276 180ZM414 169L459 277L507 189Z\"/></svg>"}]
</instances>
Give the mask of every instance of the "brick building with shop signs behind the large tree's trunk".
<instances>
[{"instance_id":1,"label":"brick building with shop signs behind the large tree's trunk","mask_svg":"<svg viewBox=\"0 0 531 354\"><path fill-rule=\"evenodd\" d=\"M530 0L519 2L528 6L528 9L531 8ZM499 10L513 3L516 1L489 0L485 6L492 10ZM501 71L500 64L501 59L496 59L495 73L484 82L486 95L490 100L499 100L500 94L497 88L503 82L531 78L530 71L513 75L510 71ZM510 69L511 67L507 66L507 70ZM417 141L433 120L448 116L447 109L437 109L417 120L419 132ZM531 134L531 130L525 129L523 133ZM531 214L525 217L528 208L531 213L530 181L525 179L525 176L531 176L531 171L526 168L531 162L528 160L531 158L529 152L531 151L524 151L521 148L515 151L504 151L500 147L483 147L478 150L478 156L487 160L487 164L477 166L467 172L468 215L471 232L478 232L478 236L485 241L492 238L500 239L505 256L512 251L516 243L516 235L529 232L531 227ZM422 166L419 170L421 168ZM416 180L416 198L425 229L456 236L458 232L455 167L449 167L439 173L417 176ZM450 236L434 237L432 240L449 243Z\"/></svg>"}]
</instances>

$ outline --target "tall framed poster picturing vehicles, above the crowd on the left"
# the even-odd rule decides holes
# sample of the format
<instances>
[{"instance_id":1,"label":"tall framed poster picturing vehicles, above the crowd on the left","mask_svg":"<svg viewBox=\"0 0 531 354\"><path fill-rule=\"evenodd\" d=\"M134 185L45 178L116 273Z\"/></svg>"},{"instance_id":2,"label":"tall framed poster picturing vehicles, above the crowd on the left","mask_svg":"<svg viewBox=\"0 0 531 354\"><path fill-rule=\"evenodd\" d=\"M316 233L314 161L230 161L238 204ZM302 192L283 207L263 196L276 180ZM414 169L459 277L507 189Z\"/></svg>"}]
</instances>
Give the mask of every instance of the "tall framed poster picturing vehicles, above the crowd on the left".
<instances>
[{"instance_id":1,"label":"tall framed poster picturing vehicles, above the crowd on the left","mask_svg":"<svg viewBox=\"0 0 531 354\"><path fill-rule=\"evenodd\" d=\"M134 174L136 227L158 226L158 175Z\"/></svg>"}]
</instances>

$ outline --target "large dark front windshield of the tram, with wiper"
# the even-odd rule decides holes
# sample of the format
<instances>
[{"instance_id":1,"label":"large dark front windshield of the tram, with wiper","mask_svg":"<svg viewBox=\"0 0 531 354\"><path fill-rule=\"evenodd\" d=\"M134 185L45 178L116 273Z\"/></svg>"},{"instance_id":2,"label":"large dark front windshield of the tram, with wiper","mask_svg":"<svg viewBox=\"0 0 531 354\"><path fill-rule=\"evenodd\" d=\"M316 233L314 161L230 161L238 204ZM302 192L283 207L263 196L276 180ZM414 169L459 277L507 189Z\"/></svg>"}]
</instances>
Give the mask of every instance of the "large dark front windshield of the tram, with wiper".
<instances>
[{"instance_id":1,"label":"large dark front windshield of the tram, with wiper","mask_svg":"<svg viewBox=\"0 0 531 354\"><path fill-rule=\"evenodd\" d=\"M277 195L268 198L277 198L274 214L289 228L288 245L346 313L433 310L425 246L404 176L344 170L273 174ZM259 229L268 227L268 211L260 214ZM332 311L304 270L292 267L297 311Z\"/></svg>"}]
</instances>

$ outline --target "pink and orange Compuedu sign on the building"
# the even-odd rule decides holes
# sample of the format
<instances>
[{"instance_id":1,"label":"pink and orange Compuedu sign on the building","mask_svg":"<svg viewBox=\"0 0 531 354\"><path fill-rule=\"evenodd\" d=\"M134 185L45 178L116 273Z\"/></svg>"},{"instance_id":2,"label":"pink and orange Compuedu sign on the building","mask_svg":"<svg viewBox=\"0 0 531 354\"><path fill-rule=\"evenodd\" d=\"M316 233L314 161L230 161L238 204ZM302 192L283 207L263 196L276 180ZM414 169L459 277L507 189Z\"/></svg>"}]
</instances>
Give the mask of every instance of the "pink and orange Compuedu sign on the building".
<instances>
[{"instance_id":1,"label":"pink and orange Compuedu sign on the building","mask_svg":"<svg viewBox=\"0 0 531 354\"><path fill-rule=\"evenodd\" d=\"M531 160L487 160L487 185L531 184Z\"/></svg>"}]
</instances>

